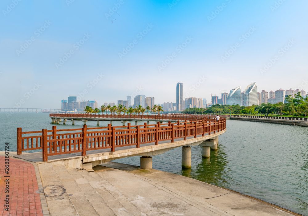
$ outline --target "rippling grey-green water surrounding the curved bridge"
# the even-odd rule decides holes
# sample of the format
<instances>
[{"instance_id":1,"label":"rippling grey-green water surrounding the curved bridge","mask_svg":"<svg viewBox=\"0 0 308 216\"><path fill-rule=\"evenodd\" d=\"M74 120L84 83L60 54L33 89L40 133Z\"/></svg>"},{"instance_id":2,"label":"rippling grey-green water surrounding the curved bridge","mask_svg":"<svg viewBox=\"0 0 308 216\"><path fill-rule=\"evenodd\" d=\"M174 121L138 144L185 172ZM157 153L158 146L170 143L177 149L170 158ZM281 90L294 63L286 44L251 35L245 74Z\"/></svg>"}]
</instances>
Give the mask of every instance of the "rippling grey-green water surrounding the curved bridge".
<instances>
[{"instance_id":1,"label":"rippling grey-green water surrounding the curved bridge","mask_svg":"<svg viewBox=\"0 0 308 216\"><path fill-rule=\"evenodd\" d=\"M48 113L0 113L0 142L16 151L16 128L23 131L51 129ZM108 122L102 122L107 125ZM113 122L114 126L121 125ZM141 123L140 123L141 124ZM151 123L152 124L152 123ZM96 126L96 121L87 122ZM81 121L57 128L80 128ZM181 169L181 148L153 157L153 169L176 173L265 200L308 215L308 128L227 120L219 136L218 151L202 158L201 147L192 147L192 168ZM140 165L140 157L116 162Z\"/></svg>"}]
</instances>

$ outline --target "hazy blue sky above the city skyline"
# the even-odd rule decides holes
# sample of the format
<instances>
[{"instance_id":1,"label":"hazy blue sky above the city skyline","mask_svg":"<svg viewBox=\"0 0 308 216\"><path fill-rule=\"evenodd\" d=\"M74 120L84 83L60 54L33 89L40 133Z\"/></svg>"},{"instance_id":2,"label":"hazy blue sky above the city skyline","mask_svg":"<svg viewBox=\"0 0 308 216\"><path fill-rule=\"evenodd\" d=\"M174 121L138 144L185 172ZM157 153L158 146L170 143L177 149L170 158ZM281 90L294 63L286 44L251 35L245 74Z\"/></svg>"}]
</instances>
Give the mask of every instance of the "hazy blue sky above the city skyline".
<instances>
[{"instance_id":1,"label":"hazy blue sky above the city skyline","mask_svg":"<svg viewBox=\"0 0 308 216\"><path fill-rule=\"evenodd\" d=\"M308 90L306 0L2 0L0 107ZM228 53L229 52L229 53ZM267 65L265 67L265 65ZM86 92L83 94L83 91Z\"/></svg>"}]
</instances>

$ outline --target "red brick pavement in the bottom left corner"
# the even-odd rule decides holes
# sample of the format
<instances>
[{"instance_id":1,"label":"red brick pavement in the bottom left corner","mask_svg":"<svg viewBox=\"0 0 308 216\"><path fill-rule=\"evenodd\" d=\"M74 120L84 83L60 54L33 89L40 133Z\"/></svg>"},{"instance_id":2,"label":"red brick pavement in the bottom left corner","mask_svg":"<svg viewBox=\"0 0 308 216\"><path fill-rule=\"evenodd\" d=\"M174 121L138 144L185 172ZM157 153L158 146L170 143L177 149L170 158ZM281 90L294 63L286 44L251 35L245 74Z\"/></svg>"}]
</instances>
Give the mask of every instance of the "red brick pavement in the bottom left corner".
<instances>
[{"instance_id":1,"label":"red brick pavement in the bottom left corner","mask_svg":"<svg viewBox=\"0 0 308 216\"><path fill-rule=\"evenodd\" d=\"M5 157L0 156L0 215L3 216L43 216L39 187L34 166L10 157L9 174L5 173ZM9 179L9 192L5 193L6 178ZM6 194L9 195L9 211L5 210Z\"/></svg>"}]
</instances>

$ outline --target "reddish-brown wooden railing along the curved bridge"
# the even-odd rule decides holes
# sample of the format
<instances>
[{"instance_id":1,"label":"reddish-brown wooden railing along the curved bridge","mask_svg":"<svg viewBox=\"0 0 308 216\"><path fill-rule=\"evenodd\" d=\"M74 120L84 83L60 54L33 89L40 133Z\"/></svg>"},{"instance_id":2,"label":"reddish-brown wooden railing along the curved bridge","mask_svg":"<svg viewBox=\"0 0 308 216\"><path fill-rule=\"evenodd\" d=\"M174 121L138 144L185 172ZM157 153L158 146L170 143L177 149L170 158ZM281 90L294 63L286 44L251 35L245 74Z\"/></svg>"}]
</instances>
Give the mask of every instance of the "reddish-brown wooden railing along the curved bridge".
<instances>
[{"instance_id":1,"label":"reddish-brown wooden railing along the curved bridge","mask_svg":"<svg viewBox=\"0 0 308 216\"><path fill-rule=\"evenodd\" d=\"M59 117L59 114L50 114ZM61 117L76 117L75 115L89 114L60 114ZM70 115L70 116L65 116ZM89 115L91 116L91 114ZM102 116L102 115L100 115ZM104 115L105 118L114 116L117 118L130 118L125 115ZM133 116L133 115L132 115ZM141 119L153 119L154 116L139 116ZM91 117L87 117L91 118ZM113 118L113 117L112 117ZM192 116L192 115L164 115L156 116L157 120L177 120L175 123L170 121L166 124L147 124L112 127L108 124L107 127L83 128L78 129L57 129L56 126L52 130L43 129L42 131L22 132L22 128L17 128L17 154L22 151L42 149L43 161L47 161L48 156L81 152L85 156L88 150L111 149L115 151L116 147L136 145L140 148L141 144L155 143L159 141L170 140L187 137L197 138L198 135L216 133L226 128L226 119L221 118L215 121L209 116ZM180 121L179 119L183 120ZM197 120L198 119L198 120ZM30 136L22 136L30 134Z\"/></svg>"}]
</instances>

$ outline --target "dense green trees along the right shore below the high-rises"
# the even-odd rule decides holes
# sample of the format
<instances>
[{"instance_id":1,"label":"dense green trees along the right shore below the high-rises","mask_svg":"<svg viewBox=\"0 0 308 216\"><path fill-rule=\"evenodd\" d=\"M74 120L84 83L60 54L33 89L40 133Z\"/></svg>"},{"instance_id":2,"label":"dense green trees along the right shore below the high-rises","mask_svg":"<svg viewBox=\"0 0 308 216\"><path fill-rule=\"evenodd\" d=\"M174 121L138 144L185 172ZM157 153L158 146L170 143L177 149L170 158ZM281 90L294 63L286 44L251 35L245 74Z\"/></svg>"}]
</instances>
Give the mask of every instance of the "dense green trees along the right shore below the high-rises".
<instances>
[{"instance_id":1,"label":"dense green trees along the right shore below the high-rises","mask_svg":"<svg viewBox=\"0 0 308 216\"><path fill-rule=\"evenodd\" d=\"M303 98L300 93L293 97L289 95L286 97L286 103L279 102L278 104L260 104L252 106L220 105L215 104L209 108L187 108L182 113L187 114L206 114L206 113L221 113L221 114L250 114L250 115L268 115L276 114L282 116L283 114L292 116L307 116L308 97Z\"/></svg>"}]
</instances>

